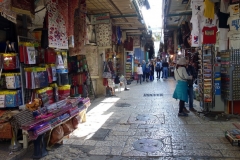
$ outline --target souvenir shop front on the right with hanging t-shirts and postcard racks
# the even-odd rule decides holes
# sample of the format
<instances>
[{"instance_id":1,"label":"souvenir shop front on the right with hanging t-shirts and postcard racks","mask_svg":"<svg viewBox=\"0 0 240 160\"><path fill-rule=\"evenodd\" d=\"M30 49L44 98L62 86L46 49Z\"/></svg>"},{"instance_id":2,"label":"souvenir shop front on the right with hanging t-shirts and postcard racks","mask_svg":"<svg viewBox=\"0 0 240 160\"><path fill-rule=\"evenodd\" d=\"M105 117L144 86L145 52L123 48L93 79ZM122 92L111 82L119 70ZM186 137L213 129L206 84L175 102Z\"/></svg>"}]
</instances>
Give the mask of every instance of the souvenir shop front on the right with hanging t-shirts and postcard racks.
<instances>
[{"instance_id":1,"label":"souvenir shop front on the right with hanging t-shirts and postcard racks","mask_svg":"<svg viewBox=\"0 0 240 160\"><path fill-rule=\"evenodd\" d=\"M239 114L239 1L192 0L191 10L177 31L177 56L188 56L198 71L204 112Z\"/></svg>"}]
</instances>

